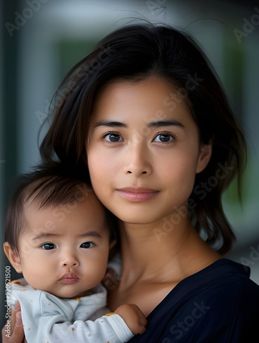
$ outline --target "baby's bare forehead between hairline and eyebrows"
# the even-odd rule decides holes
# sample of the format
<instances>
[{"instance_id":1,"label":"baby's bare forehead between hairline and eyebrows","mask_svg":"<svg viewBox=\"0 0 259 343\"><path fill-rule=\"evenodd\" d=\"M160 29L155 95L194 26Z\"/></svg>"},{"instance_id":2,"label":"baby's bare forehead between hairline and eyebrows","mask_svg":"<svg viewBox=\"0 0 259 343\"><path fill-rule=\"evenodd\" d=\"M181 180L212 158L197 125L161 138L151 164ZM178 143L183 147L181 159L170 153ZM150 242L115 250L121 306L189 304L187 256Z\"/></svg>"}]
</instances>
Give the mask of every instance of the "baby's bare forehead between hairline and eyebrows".
<instances>
[{"instance_id":1,"label":"baby's bare forehead between hairline and eyebrows","mask_svg":"<svg viewBox=\"0 0 259 343\"><path fill-rule=\"evenodd\" d=\"M33 235L39 230L58 235L68 232L75 236L92 232L106 237L110 230L105 208L92 190L82 198L55 204L43 205L40 198L30 200L24 206L24 219L23 232Z\"/></svg>"}]
</instances>

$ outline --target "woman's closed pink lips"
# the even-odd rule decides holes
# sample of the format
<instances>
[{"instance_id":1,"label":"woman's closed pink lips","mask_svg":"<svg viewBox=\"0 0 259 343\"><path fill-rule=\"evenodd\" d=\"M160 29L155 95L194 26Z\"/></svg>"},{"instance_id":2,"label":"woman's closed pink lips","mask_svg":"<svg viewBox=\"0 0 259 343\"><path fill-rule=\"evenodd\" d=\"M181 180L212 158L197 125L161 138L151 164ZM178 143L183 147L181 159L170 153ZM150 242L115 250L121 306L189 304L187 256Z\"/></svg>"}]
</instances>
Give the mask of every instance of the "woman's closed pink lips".
<instances>
[{"instance_id":1,"label":"woman's closed pink lips","mask_svg":"<svg viewBox=\"0 0 259 343\"><path fill-rule=\"evenodd\" d=\"M120 196L122 196L122 198L133 202L143 202L146 200L150 200L151 198L154 198L154 196L157 196L157 194L159 193L159 191L155 189L144 187L125 187L116 189L116 191L120 194Z\"/></svg>"}]
</instances>

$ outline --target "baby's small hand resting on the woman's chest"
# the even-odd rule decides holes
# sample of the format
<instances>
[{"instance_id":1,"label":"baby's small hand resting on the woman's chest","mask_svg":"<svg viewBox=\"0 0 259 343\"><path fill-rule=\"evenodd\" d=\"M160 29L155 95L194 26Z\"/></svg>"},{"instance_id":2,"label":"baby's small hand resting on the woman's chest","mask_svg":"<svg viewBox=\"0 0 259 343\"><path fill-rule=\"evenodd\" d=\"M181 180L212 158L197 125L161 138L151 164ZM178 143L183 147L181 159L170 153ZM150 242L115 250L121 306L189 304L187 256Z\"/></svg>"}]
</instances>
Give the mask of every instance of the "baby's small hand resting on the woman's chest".
<instances>
[{"instance_id":1,"label":"baby's small hand resting on the woman's chest","mask_svg":"<svg viewBox=\"0 0 259 343\"><path fill-rule=\"evenodd\" d=\"M119 314L124 322L128 325L134 335L144 333L146 324L148 324L143 312L137 305L124 304L115 310L115 314Z\"/></svg>"}]
</instances>

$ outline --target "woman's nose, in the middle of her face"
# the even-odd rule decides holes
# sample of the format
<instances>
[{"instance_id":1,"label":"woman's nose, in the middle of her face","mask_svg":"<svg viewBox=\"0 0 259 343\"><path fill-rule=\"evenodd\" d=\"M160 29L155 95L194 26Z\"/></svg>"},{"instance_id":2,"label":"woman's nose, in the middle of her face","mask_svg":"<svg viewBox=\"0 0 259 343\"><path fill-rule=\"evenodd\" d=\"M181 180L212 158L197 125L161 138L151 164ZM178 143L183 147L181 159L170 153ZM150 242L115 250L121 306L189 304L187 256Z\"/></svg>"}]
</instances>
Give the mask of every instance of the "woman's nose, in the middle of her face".
<instances>
[{"instance_id":1,"label":"woman's nose, in the middle of her face","mask_svg":"<svg viewBox=\"0 0 259 343\"><path fill-rule=\"evenodd\" d=\"M132 174L135 178L152 172L148 148L142 144L129 147L125 155L125 161L124 172Z\"/></svg>"}]
</instances>

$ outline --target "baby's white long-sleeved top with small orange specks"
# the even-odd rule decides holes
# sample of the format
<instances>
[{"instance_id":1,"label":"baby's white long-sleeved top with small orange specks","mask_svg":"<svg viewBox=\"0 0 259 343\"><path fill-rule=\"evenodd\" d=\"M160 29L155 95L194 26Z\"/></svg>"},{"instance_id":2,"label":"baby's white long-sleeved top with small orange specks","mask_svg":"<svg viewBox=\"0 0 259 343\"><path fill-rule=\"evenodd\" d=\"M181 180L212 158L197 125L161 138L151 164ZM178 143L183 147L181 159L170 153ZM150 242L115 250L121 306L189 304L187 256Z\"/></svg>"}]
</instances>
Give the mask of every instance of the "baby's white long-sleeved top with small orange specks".
<instances>
[{"instance_id":1,"label":"baby's white long-sleeved top with small orange specks","mask_svg":"<svg viewBox=\"0 0 259 343\"><path fill-rule=\"evenodd\" d=\"M76 320L74 311L64 300L47 292L19 290L25 338L28 343L121 343L133 333L117 314L96 320Z\"/></svg>"}]
</instances>

